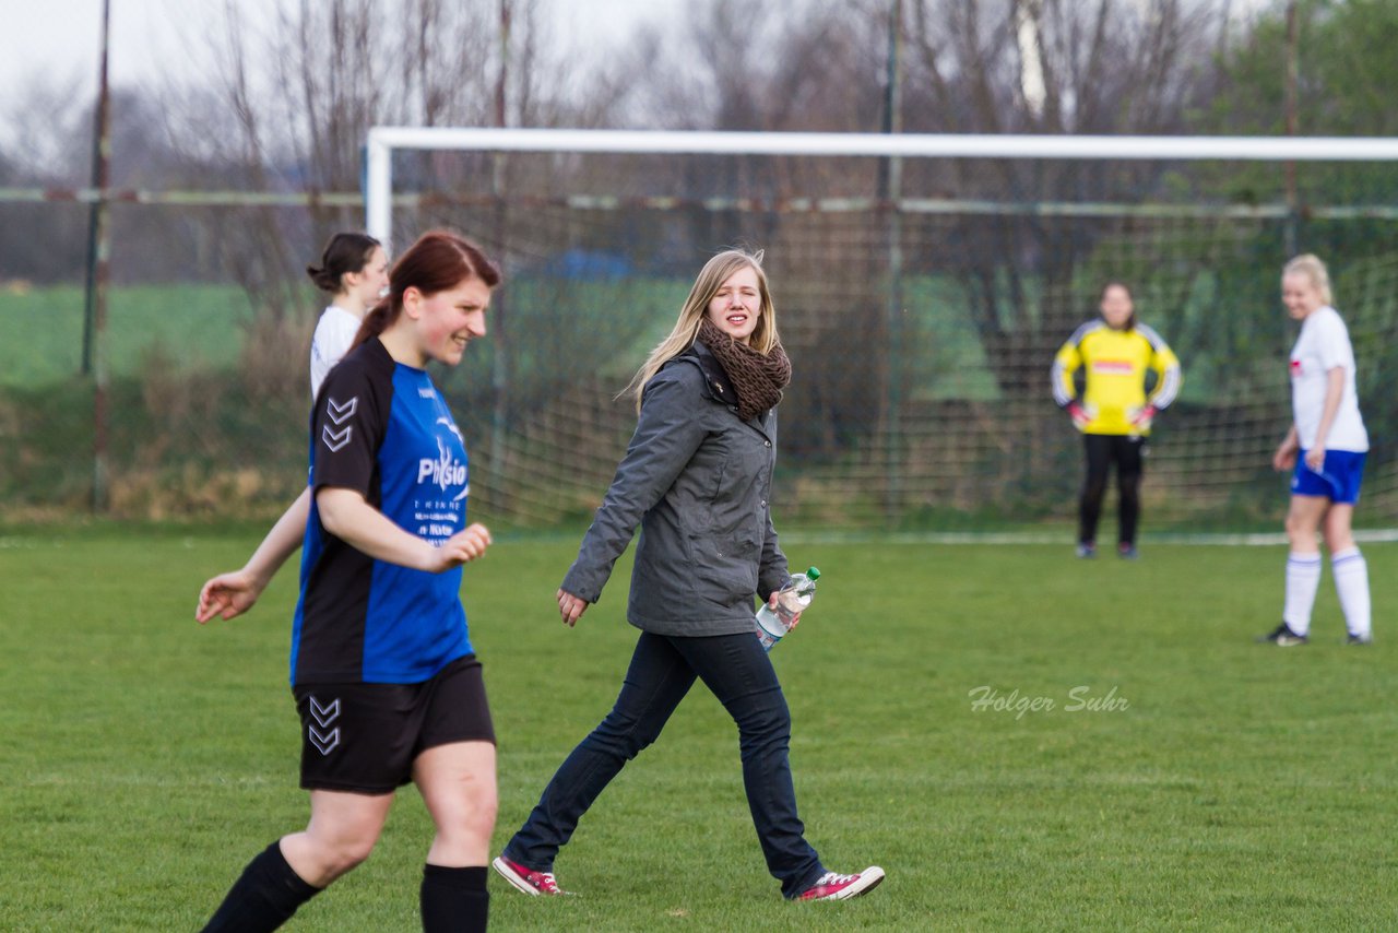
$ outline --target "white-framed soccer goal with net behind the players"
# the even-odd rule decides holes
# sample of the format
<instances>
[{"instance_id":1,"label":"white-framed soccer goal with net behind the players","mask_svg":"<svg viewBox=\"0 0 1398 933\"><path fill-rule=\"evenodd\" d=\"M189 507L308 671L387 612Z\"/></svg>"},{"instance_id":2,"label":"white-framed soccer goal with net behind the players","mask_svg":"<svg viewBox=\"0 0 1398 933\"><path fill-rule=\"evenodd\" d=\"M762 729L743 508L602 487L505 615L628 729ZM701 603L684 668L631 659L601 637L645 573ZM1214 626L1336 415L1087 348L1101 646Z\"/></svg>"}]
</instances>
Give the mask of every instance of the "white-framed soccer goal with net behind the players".
<instances>
[{"instance_id":1,"label":"white-framed soccer goal with net behind the players","mask_svg":"<svg viewBox=\"0 0 1398 933\"><path fill-rule=\"evenodd\" d=\"M1373 435L1357 523L1398 525L1398 140L377 127L366 224L459 228L505 266L484 352L447 378L473 492L583 518L635 421L617 393L693 274L766 250L794 380L783 526L986 532L1068 518L1081 441L1057 347L1128 283L1183 361L1149 532L1275 529L1290 422L1288 257L1331 266ZM1110 508L1110 506L1109 506Z\"/></svg>"}]
</instances>

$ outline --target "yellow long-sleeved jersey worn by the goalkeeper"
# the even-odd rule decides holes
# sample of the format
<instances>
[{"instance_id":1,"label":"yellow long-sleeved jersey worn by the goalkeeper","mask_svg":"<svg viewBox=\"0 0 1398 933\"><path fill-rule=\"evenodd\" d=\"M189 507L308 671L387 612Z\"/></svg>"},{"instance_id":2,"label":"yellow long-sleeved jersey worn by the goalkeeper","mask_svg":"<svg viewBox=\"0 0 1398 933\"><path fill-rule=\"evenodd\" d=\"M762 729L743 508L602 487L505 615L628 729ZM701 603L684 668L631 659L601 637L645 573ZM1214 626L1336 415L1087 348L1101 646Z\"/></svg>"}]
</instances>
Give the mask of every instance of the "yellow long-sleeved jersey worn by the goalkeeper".
<instances>
[{"instance_id":1,"label":"yellow long-sleeved jersey worn by the goalkeeper","mask_svg":"<svg viewBox=\"0 0 1398 933\"><path fill-rule=\"evenodd\" d=\"M1078 397L1074 373L1079 368L1086 375L1081 404L1090 418L1081 428L1083 434L1149 434L1149 424L1137 425L1132 420L1146 404L1156 411L1167 407L1184 379L1180 359L1160 334L1145 325L1113 330L1102 319L1078 327L1054 357L1053 394L1060 407ZM1145 393L1148 369L1156 375L1149 399Z\"/></svg>"}]
</instances>

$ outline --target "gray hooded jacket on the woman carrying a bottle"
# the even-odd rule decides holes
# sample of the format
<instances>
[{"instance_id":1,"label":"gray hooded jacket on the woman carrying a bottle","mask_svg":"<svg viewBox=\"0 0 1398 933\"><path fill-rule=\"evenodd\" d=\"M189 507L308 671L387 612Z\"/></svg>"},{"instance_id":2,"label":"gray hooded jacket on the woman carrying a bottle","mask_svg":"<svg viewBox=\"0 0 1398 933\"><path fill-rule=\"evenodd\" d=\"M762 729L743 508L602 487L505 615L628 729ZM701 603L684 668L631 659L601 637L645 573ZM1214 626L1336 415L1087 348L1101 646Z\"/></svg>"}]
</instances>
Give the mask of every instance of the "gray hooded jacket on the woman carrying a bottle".
<instances>
[{"instance_id":1,"label":"gray hooded jacket on the woman carrying a bottle","mask_svg":"<svg viewBox=\"0 0 1398 933\"><path fill-rule=\"evenodd\" d=\"M640 525L626 618L657 635L752 631L754 596L790 581L772 526L777 414L740 421L703 343L646 385L640 418L563 590L601 597Z\"/></svg>"}]
</instances>

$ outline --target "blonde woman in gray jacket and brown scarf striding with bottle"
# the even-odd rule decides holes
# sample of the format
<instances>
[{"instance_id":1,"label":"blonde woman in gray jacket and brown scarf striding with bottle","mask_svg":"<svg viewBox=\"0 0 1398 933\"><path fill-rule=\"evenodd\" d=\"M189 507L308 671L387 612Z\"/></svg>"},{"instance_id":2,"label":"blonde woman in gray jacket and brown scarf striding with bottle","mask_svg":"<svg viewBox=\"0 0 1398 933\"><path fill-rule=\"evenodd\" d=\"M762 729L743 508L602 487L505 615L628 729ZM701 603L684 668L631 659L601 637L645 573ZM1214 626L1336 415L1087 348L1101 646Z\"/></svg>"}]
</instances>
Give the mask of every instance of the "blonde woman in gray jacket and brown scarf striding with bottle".
<instances>
[{"instance_id":1,"label":"blonde woman in gray jacket and brown scarf striding with bottle","mask_svg":"<svg viewBox=\"0 0 1398 933\"><path fill-rule=\"evenodd\" d=\"M636 373L639 420L577 560L558 590L573 625L601 596L640 525L626 618L640 639L611 713L563 761L500 857L514 888L563 894L554 859L593 800L653 743L695 680L738 726L742 781L781 894L844 899L884 871L826 871L797 816L791 716L754 632L752 599L790 581L772 527L777 415L791 364L777 339L762 253L710 259L674 330Z\"/></svg>"}]
</instances>

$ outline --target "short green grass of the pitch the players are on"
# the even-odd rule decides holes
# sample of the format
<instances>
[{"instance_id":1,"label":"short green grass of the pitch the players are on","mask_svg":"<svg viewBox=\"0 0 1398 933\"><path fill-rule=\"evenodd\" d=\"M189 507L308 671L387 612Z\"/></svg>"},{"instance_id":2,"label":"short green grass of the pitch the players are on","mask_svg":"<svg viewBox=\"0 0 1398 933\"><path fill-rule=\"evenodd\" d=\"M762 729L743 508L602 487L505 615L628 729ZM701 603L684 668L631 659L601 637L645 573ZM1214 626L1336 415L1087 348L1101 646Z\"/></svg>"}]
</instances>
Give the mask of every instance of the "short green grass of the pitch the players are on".
<instances>
[{"instance_id":1,"label":"short green grass of the pitch the players are on","mask_svg":"<svg viewBox=\"0 0 1398 933\"><path fill-rule=\"evenodd\" d=\"M294 574L245 618L194 596L257 533L0 539L0 926L197 929L253 853L299 828L285 684ZM500 737L496 848L608 709L633 642L625 575L568 631L576 540L502 540L464 600ZM1339 930L1398 916L1391 581L1366 547L1378 645L1348 649L1329 583L1313 645L1253 643L1279 547L791 540L821 597L773 653L808 835L868 863L868 898L793 905L766 876L737 741L696 691L558 863L582 897L492 880L496 930ZM1398 642L1394 642L1398 643ZM1008 709L977 709L987 688ZM1075 708L1074 697L1107 708ZM1018 712L1047 698L1053 709ZM1043 701L1039 702L1043 705ZM411 789L375 856L292 930L414 930L431 835Z\"/></svg>"}]
</instances>

